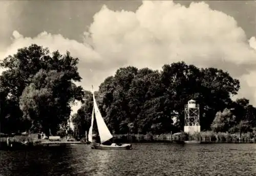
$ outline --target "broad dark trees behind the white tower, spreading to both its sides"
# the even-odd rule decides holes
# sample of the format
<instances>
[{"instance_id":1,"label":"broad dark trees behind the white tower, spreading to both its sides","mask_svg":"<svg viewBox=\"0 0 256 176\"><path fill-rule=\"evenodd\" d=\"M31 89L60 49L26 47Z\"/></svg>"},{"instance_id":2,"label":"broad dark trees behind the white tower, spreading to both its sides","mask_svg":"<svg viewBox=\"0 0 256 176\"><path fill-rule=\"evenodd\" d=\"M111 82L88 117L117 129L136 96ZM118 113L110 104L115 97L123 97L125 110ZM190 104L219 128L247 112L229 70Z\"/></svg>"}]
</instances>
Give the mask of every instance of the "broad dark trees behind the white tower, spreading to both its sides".
<instances>
[{"instance_id":1,"label":"broad dark trees behind the white tower, spreading to both its sides","mask_svg":"<svg viewBox=\"0 0 256 176\"><path fill-rule=\"evenodd\" d=\"M231 94L237 94L239 81L232 79L227 72L216 68L199 69L184 62L164 65L161 81L165 85L168 98L178 112L178 124L184 125L184 105L189 99L200 104L201 129L207 130L218 111L229 108Z\"/></svg>"}]
</instances>

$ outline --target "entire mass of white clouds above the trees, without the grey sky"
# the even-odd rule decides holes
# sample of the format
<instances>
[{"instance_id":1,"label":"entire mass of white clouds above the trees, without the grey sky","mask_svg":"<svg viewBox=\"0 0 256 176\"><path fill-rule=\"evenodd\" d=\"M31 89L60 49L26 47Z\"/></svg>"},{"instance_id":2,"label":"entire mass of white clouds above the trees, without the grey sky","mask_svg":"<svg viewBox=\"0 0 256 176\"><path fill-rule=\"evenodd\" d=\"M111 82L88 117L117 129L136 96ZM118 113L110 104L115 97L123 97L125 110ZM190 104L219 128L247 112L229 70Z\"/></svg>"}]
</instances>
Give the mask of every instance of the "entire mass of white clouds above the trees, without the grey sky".
<instances>
[{"instance_id":1,"label":"entire mass of white clouds above the trees, without the grey sky","mask_svg":"<svg viewBox=\"0 0 256 176\"><path fill-rule=\"evenodd\" d=\"M87 89L125 65L159 69L165 63L184 60L214 66L241 78L239 96L246 95L256 105L256 88L248 85L255 78L255 38L249 45L233 17L211 10L205 3L191 3L186 8L170 1L145 1L135 13L104 6L95 14L89 33L85 32L84 43L79 43L47 32L34 38L14 32L6 53L13 54L31 43L62 53L67 49L80 59L81 84Z\"/></svg>"}]
</instances>

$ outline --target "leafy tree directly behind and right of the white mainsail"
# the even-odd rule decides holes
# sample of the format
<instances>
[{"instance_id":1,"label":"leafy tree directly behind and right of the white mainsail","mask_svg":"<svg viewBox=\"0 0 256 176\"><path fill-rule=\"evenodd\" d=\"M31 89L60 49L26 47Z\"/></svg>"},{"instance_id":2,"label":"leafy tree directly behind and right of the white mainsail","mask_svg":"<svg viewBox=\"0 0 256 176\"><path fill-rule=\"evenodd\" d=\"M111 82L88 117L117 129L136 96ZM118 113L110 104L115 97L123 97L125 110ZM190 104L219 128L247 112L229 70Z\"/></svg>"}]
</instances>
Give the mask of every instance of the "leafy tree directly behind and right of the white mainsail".
<instances>
[{"instance_id":1,"label":"leafy tree directly behind and right of the white mainsail","mask_svg":"<svg viewBox=\"0 0 256 176\"><path fill-rule=\"evenodd\" d=\"M109 128L116 133L129 132L129 89L137 72L131 66L119 68L114 77L106 78L99 86L99 107Z\"/></svg>"}]
</instances>

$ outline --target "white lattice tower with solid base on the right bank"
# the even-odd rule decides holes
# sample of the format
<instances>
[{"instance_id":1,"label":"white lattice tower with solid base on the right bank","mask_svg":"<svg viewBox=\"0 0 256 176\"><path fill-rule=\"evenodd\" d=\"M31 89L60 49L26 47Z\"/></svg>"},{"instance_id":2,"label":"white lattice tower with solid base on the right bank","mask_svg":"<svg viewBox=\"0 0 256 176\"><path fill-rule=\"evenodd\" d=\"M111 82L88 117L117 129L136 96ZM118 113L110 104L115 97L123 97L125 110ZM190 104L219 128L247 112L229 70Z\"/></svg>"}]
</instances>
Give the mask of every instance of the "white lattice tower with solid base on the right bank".
<instances>
[{"instance_id":1,"label":"white lattice tower with solid base on the right bank","mask_svg":"<svg viewBox=\"0 0 256 176\"><path fill-rule=\"evenodd\" d=\"M196 101L190 99L185 105L185 133L195 133L200 132L200 123L199 123L199 104L196 104Z\"/></svg>"}]
</instances>

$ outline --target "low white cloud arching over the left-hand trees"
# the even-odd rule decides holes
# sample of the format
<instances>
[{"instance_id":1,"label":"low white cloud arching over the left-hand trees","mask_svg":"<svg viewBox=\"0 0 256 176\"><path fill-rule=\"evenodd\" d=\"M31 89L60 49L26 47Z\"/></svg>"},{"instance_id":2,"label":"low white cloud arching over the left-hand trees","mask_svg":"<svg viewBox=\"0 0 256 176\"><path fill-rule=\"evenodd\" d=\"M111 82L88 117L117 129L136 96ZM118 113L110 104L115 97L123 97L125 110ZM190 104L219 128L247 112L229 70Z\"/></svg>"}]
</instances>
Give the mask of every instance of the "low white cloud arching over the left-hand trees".
<instances>
[{"instance_id":1,"label":"low white cloud arching over the left-hand trees","mask_svg":"<svg viewBox=\"0 0 256 176\"><path fill-rule=\"evenodd\" d=\"M23 37L17 31L14 31L13 43L6 49L6 54L4 57L7 55L12 55L17 52L18 48L29 46L32 43L49 47L51 52L59 50L60 53L64 54L66 51L69 51L73 57L78 57L80 59L79 70L84 80L90 81L92 78L95 78L95 80L98 79L92 75L92 72L88 68L96 68L97 71L98 66L95 64L101 62L101 56L97 52L93 51L92 48L87 47L83 43L64 38L60 34L52 35L44 31L38 34L36 37L30 38ZM88 84L90 84L90 82Z\"/></svg>"}]
</instances>

